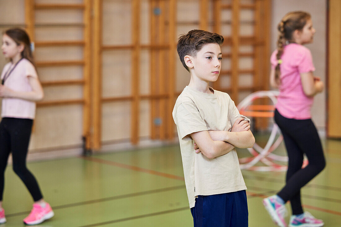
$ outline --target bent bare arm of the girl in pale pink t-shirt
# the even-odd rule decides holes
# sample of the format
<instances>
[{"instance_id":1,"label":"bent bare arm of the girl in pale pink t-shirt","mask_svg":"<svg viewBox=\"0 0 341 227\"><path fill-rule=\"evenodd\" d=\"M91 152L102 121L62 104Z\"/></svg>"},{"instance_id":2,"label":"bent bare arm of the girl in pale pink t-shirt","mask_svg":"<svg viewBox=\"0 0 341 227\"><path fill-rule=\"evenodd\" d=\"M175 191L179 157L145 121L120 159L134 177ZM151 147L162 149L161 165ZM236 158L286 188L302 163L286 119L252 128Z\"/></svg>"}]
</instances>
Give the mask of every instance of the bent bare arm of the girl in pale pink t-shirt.
<instances>
[{"instance_id":1,"label":"bent bare arm of the girl in pale pink t-shirt","mask_svg":"<svg viewBox=\"0 0 341 227\"><path fill-rule=\"evenodd\" d=\"M18 92L13 91L7 86L0 85L0 97L3 98L19 98L28 101L39 101L44 97L44 92L42 85L38 78L28 77L29 83L31 85L31 92Z\"/></svg>"}]
</instances>

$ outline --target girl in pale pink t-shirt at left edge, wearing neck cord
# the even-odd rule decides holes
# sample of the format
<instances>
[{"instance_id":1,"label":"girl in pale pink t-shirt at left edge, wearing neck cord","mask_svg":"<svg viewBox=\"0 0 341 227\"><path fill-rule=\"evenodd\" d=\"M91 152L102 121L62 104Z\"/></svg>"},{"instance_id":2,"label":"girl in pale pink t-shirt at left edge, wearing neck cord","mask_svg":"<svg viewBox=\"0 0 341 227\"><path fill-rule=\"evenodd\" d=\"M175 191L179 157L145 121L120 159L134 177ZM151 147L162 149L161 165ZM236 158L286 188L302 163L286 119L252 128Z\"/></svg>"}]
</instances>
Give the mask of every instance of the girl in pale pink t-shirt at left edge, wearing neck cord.
<instances>
[{"instance_id":1,"label":"girl in pale pink t-shirt at left edge, wearing neck cord","mask_svg":"<svg viewBox=\"0 0 341 227\"><path fill-rule=\"evenodd\" d=\"M31 193L34 204L24 223L35 225L54 215L50 205L44 201L38 182L26 167L26 156L30 141L35 101L44 96L33 65L30 39L22 29L9 29L2 37L2 53L10 62L1 74L0 97L2 98L0 123L0 223L5 223L2 208L4 171L10 152L13 170Z\"/></svg>"}]
</instances>

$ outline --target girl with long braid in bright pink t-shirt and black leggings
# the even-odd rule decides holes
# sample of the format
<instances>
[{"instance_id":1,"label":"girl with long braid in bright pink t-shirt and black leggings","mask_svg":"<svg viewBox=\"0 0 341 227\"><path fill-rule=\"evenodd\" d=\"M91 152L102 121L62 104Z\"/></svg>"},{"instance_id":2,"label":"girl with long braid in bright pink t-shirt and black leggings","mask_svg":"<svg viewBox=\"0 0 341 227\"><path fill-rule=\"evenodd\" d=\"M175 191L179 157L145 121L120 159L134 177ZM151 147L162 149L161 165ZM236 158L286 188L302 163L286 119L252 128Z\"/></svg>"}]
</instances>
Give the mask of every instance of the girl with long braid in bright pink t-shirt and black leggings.
<instances>
[{"instance_id":1,"label":"girl with long braid in bright pink t-shirt and black leggings","mask_svg":"<svg viewBox=\"0 0 341 227\"><path fill-rule=\"evenodd\" d=\"M325 158L317 130L311 120L313 97L322 92L323 83L313 75L315 70L308 48L302 46L313 41L313 28L309 13L287 13L278 25L277 50L271 55L271 86L280 94L275 110L275 122L283 134L288 153L286 185L276 195L263 200L273 221L286 227L285 206L290 200L292 216L289 226L319 227L322 220L303 212L300 189L325 167ZM303 154L309 164L302 168Z\"/></svg>"}]
</instances>

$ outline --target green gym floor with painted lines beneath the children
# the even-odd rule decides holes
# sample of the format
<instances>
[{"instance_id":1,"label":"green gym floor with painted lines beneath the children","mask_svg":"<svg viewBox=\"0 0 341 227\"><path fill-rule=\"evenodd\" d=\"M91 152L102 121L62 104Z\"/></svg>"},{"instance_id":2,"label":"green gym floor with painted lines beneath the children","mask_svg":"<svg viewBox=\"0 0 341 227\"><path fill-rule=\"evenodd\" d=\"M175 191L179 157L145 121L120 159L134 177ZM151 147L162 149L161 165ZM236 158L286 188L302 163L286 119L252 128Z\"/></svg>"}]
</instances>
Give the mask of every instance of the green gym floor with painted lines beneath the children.
<instances>
[{"instance_id":1,"label":"green gym floor with painted lines beneath the children","mask_svg":"<svg viewBox=\"0 0 341 227\"><path fill-rule=\"evenodd\" d=\"M256 136L256 141L261 138ZM327 166L302 189L302 204L326 227L340 227L341 141L324 140L323 146ZM284 154L283 145L276 152ZM238 156L246 157L248 151L238 150ZM40 227L193 226L179 145L30 162L28 168L55 212ZM262 198L281 189L285 173L242 173L249 226L275 226ZM22 220L32 208L31 196L12 166L5 173L3 207L7 223L0 227L24 226Z\"/></svg>"}]
</instances>

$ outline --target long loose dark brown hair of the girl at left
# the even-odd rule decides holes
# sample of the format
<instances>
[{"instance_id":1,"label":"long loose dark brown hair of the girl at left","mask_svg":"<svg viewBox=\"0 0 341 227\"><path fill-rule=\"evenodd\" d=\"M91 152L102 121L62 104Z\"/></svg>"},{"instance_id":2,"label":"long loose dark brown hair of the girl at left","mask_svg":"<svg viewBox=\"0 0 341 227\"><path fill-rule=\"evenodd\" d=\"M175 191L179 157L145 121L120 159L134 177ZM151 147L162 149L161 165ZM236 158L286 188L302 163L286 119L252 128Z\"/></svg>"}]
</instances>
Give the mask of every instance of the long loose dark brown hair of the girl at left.
<instances>
[{"instance_id":1,"label":"long loose dark brown hair of the girl at left","mask_svg":"<svg viewBox=\"0 0 341 227\"><path fill-rule=\"evenodd\" d=\"M11 37L17 45L24 45L24 50L21 52L21 57L26 58L34 65L31 41L28 34L20 28L8 29L5 31L5 34Z\"/></svg>"}]
</instances>

